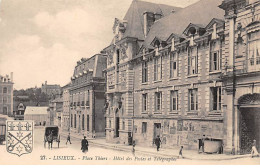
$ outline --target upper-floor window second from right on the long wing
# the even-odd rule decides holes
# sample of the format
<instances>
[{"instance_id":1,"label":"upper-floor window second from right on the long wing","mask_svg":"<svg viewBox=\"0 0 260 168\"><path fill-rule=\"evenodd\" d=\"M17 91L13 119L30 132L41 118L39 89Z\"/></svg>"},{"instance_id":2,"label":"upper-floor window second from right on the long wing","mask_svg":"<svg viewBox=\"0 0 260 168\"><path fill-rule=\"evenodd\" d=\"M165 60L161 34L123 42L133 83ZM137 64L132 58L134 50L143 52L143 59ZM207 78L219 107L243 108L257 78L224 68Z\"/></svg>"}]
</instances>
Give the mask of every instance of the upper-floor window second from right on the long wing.
<instances>
[{"instance_id":1,"label":"upper-floor window second from right on the long wing","mask_svg":"<svg viewBox=\"0 0 260 168\"><path fill-rule=\"evenodd\" d=\"M188 54L188 75L194 75L198 73L198 56L197 49L195 47L189 48Z\"/></svg>"}]
</instances>

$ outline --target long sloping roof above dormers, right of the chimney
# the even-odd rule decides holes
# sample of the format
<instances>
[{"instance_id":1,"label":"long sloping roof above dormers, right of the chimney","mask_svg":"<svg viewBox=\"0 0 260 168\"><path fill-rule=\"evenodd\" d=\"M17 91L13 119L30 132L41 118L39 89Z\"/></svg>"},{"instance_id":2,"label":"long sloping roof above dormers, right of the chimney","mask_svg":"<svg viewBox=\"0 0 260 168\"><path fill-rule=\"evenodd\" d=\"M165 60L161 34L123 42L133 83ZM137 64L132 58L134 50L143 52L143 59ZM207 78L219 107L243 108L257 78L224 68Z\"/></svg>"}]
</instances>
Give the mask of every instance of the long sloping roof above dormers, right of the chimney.
<instances>
[{"instance_id":1,"label":"long sloping roof above dormers, right of the chimney","mask_svg":"<svg viewBox=\"0 0 260 168\"><path fill-rule=\"evenodd\" d=\"M183 31L190 23L196 23L200 27L206 27L213 18L224 20L224 10L218 6L222 0L200 0L186 8L172 13L157 22L151 27L147 38L144 41L146 48L149 48L155 37L166 41L174 33L182 37Z\"/></svg>"}]
</instances>

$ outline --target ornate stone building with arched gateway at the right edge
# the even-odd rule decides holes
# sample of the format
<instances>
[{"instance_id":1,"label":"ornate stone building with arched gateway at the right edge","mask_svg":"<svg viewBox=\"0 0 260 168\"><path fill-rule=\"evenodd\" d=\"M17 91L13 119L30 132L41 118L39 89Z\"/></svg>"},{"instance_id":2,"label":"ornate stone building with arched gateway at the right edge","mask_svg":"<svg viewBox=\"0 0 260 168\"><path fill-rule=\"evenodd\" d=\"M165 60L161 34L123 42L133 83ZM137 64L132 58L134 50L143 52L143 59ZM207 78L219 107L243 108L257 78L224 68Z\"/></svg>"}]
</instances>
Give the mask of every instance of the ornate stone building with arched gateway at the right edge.
<instances>
[{"instance_id":1,"label":"ornate stone building with arched gateway at the right edge","mask_svg":"<svg viewBox=\"0 0 260 168\"><path fill-rule=\"evenodd\" d=\"M260 150L260 1L225 0L226 148L249 153L252 142Z\"/></svg>"}]
</instances>

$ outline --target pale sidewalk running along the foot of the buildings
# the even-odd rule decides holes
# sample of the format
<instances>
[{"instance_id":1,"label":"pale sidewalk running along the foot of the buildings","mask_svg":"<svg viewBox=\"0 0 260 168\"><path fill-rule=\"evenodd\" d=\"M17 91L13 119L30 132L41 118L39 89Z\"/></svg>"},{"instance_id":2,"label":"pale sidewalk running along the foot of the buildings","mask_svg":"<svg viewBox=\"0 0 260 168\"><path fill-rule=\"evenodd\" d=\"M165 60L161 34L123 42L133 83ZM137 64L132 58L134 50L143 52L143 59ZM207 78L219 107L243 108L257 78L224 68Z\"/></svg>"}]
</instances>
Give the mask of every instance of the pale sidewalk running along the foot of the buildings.
<instances>
[{"instance_id":1,"label":"pale sidewalk running along the foot of the buildings","mask_svg":"<svg viewBox=\"0 0 260 168\"><path fill-rule=\"evenodd\" d=\"M62 136L67 136L67 133L61 133ZM76 139L82 139L82 136L71 135L71 137ZM125 152L132 152L132 146L127 146L124 144L114 144L114 143L107 143L105 138L88 138L88 141L93 146L98 146L106 149L118 150L118 151L125 151ZM157 156L157 157L178 157L179 149L166 149L161 148L159 152L156 151L156 147L141 147L135 146L135 153L139 154L146 154L150 156ZM183 150L183 157L184 159L189 160L212 160L212 161L221 161L221 160L232 160L232 159L239 159L239 158L250 158L251 155L227 155L227 154L198 154L196 150Z\"/></svg>"}]
</instances>

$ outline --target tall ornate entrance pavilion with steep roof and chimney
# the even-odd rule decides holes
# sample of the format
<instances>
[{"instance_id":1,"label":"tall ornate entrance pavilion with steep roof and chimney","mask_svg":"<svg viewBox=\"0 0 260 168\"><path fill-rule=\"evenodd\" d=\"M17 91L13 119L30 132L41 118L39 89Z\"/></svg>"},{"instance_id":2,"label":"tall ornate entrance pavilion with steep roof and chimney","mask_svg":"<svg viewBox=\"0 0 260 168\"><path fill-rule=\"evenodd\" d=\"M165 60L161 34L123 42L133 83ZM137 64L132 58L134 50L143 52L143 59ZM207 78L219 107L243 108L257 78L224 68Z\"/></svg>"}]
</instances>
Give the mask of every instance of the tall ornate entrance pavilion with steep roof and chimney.
<instances>
[{"instance_id":1,"label":"tall ornate entrance pavilion with steep roof and chimney","mask_svg":"<svg viewBox=\"0 0 260 168\"><path fill-rule=\"evenodd\" d=\"M151 25L179 8L133 1L123 20L115 19L112 43L104 49L107 58L106 139L131 143L133 130L134 82L133 60L145 40ZM145 19L144 19L145 18ZM138 72L139 73L139 72ZM140 75L140 74L139 74Z\"/></svg>"}]
</instances>

